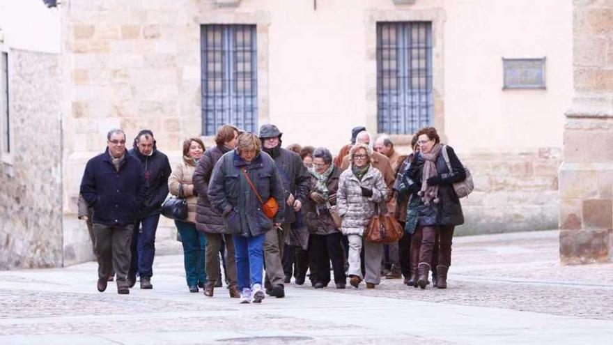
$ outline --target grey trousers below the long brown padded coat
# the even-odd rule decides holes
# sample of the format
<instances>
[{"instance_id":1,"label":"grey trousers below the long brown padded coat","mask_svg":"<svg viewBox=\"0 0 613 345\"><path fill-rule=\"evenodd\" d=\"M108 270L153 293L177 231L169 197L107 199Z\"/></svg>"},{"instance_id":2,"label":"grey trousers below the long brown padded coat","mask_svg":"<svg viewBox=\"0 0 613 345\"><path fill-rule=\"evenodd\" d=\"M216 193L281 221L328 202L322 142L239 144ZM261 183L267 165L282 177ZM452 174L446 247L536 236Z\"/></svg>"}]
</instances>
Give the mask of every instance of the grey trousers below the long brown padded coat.
<instances>
[{"instance_id":1,"label":"grey trousers below the long brown padded coat","mask_svg":"<svg viewBox=\"0 0 613 345\"><path fill-rule=\"evenodd\" d=\"M234 242L232 235L224 235L223 233L205 233L206 236L206 254L205 254L205 270L206 280L215 284L217 280L222 279L221 270L219 268L219 250L222 249L222 238L226 241L226 281L229 286L236 285L236 258L234 256Z\"/></svg>"}]
</instances>

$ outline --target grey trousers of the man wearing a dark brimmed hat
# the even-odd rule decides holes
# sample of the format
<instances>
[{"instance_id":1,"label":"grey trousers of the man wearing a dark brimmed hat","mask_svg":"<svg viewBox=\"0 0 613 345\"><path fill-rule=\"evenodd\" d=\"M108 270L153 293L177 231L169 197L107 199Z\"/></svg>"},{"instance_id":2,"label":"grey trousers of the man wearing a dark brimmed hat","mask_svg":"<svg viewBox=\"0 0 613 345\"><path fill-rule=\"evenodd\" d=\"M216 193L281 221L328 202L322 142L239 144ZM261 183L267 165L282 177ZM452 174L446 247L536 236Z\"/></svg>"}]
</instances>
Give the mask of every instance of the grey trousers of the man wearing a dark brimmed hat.
<instances>
[{"instance_id":1,"label":"grey trousers of the man wearing a dark brimmed hat","mask_svg":"<svg viewBox=\"0 0 613 345\"><path fill-rule=\"evenodd\" d=\"M266 270L265 285L283 285L285 273L283 271L283 247L285 238L290 231L290 223L281 224L283 231L276 228L267 231L264 236L264 265Z\"/></svg>"}]
</instances>

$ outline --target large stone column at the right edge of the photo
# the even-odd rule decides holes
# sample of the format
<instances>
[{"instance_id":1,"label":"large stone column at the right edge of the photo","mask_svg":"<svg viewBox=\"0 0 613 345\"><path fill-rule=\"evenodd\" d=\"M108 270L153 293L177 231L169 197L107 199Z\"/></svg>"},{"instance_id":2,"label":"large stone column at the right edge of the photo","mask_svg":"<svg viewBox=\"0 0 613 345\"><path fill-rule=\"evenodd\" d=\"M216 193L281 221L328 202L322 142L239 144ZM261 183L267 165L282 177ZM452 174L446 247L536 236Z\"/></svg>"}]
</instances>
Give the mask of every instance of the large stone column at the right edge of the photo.
<instances>
[{"instance_id":1,"label":"large stone column at the right edge of the photo","mask_svg":"<svg viewBox=\"0 0 613 345\"><path fill-rule=\"evenodd\" d=\"M562 264L607 262L613 252L613 2L573 4L575 92L559 170Z\"/></svg>"}]
</instances>

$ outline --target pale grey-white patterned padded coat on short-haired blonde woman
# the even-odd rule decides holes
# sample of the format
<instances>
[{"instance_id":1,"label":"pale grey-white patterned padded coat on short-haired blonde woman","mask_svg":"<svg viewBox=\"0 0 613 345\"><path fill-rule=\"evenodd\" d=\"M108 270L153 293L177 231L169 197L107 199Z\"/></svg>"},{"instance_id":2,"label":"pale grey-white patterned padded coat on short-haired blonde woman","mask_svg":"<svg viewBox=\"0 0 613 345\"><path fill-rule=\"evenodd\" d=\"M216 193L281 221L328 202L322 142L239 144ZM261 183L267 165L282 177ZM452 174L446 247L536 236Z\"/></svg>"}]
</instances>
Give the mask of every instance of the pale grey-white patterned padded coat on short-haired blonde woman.
<instances>
[{"instance_id":1,"label":"pale grey-white patterned padded coat on short-haired blonde woman","mask_svg":"<svg viewBox=\"0 0 613 345\"><path fill-rule=\"evenodd\" d=\"M373 191L372 197L362 197L362 188ZM375 214L375 204L385 201L387 186L381 172L371 165L359 181L351 167L343 171L339 180L339 191L336 193L336 209L343 217L341 232L343 235L364 234L368 222ZM385 205L385 204L384 204Z\"/></svg>"}]
</instances>

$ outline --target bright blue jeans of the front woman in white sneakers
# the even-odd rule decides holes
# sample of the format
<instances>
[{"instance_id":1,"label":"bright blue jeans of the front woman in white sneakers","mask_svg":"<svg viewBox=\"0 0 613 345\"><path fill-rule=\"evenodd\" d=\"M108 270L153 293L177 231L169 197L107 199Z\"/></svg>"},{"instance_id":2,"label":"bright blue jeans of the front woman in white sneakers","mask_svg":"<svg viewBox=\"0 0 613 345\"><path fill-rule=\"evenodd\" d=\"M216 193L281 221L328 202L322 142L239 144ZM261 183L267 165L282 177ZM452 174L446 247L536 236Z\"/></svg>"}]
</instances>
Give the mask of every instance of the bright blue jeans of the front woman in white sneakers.
<instances>
[{"instance_id":1,"label":"bright blue jeans of the front woman in white sneakers","mask_svg":"<svg viewBox=\"0 0 613 345\"><path fill-rule=\"evenodd\" d=\"M233 235L238 289L262 284L264 267L264 234L258 236Z\"/></svg>"}]
</instances>

